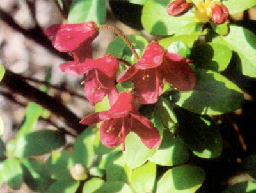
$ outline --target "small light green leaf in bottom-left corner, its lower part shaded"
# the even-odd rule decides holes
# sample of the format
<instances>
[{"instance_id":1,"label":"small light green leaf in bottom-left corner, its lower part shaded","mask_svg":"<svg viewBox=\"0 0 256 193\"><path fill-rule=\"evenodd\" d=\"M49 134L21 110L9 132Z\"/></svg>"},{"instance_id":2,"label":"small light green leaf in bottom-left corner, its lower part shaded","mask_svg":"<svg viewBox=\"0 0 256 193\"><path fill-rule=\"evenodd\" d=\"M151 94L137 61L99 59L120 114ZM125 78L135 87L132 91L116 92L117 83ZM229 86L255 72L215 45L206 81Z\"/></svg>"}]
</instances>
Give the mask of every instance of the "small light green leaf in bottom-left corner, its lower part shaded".
<instances>
[{"instance_id":1,"label":"small light green leaf in bottom-left corner, its lower part shaded","mask_svg":"<svg viewBox=\"0 0 256 193\"><path fill-rule=\"evenodd\" d=\"M3 167L1 169L3 180L12 188L20 189L23 182L22 167L17 158L8 158L4 160Z\"/></svg>"}]
</instances>

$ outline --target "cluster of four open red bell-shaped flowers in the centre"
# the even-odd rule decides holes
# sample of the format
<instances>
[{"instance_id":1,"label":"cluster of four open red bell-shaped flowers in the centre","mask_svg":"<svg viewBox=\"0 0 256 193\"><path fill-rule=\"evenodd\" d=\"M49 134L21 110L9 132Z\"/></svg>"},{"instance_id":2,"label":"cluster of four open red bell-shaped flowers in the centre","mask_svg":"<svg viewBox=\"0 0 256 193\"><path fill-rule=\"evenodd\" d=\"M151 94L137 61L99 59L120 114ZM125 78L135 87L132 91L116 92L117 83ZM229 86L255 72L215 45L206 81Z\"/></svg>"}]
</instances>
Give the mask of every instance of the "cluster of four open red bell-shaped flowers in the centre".
<instances>
[{"instance_id":1,"label":"cluster of four open red bell-shaped flowers in the centre","mask_svg":"<svg viewBox=\"0 0 256 193\"><path fill-rule=\"evenodd\" d=\"M92 58L91 44L99 35L99 29L94 22L86 22L56 24L45 30L47 36L52 36L52 45L57 50L73 57L73 61L61 64L60 69L69 75L84 75L84 93L90 103L95 105L108 96L108 111L86 116L80 123L102 122L100 139L109 148L122 144L122 150L125 150L124 141L129 132L138 134L147 148L157 148L161 143L159 132L150 120L140 115L137 102L157 102L165 82L182 91L193 89L196 78L188 65L191 61L179 54L168 53L157 42L152 42L145 47L141 58L117 77L120 59L111 54ZM129 79L134 82L132 91L118 92L116 82Z\"/></svg>"}]
</instances>

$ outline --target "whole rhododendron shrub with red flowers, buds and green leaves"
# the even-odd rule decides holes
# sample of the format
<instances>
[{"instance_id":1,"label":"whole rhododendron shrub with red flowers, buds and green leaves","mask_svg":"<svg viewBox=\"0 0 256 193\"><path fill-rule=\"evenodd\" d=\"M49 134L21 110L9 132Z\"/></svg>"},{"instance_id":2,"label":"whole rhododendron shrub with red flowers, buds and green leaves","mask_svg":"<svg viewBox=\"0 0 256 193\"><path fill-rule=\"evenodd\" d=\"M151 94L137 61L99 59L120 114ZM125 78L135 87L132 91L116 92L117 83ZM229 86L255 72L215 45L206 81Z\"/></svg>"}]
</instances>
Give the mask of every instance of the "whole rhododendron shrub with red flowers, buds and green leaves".
<instances>
[{"instance_id":1,"label":"whole rhododendron shrub with red flowers, buds and green leaves","mask_svg":"<svg viewBox=\"0 0 256 193\"><path fill-rule=\"evenodd\" d=\"M108 11L137 30L127 35L106 25L111 23L105 22L106 1L72 1L67 20L47 27L45 36L70 55L60 71L81 79L95 112L87 114L84 107L87 115L77 121L84 130L70 151L52 151L65 144L59 133L28 132L9 147L3 166L17 167L20 179L24 172L24 181L38 192L214 192L216 180L205 167L224 151L222 115L244 104L240 85L230 78L235 73L256 78L254 23L232 17L255 5L255 0L109 1ZM93 41L104 40L106 30L116 37L93 57ZM38 144L40 135L51 136L49 144L56 139L56 145L19 151L18 143ZM49 152L46 164L30 159ZM19 189L23 177L19 183L11 177L5 181Z\"/></svg>"}]
</instances>

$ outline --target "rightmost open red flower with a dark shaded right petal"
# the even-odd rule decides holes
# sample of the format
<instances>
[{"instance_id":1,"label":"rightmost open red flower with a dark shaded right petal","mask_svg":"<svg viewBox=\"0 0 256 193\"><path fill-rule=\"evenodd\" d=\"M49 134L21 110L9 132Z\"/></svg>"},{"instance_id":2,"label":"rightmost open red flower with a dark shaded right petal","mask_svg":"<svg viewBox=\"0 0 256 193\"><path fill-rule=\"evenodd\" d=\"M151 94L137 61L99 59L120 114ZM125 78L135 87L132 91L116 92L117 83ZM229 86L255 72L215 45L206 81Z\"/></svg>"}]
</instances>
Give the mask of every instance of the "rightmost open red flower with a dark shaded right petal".
<instances>
[{"instance_id":1,"label":"rightmost open red flower with a dark shaded right petal","mask_svg":"<svg viewBox=\"0 0 256 193\"><path fill-rule=\"evenodd\" d=\"M195 74L189 59L167 53L158 43L150 43L135 65L120 74L117 81L134 77L135 95L141 104L157 102L167 81L175 88L188 91L195 86Z\"/></svg>"}]
</instances>

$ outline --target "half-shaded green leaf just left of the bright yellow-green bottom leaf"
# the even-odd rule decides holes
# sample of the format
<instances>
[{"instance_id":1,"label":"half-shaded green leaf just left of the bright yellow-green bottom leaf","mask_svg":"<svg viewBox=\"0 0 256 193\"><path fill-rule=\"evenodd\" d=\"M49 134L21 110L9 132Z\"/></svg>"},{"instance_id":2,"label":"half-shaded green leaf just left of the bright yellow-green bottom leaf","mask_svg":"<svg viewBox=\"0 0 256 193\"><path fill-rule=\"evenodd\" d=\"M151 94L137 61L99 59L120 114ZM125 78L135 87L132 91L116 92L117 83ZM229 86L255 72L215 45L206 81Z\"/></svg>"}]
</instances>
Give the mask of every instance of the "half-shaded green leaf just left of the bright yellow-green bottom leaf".
<instances>
[{"instance_id":1,"label":"half-shaded green leaf just left of the bright yellow-green bottom leaf","mask_svg":"<svg viewBox=\"0 0 256 193\"><path fill-rule=\"evenodd\" d=\"M122 153L116 154L106 167L107 181L122 181L129 183L132 170L127 167Z\"/></svg>"}]
</instances>

